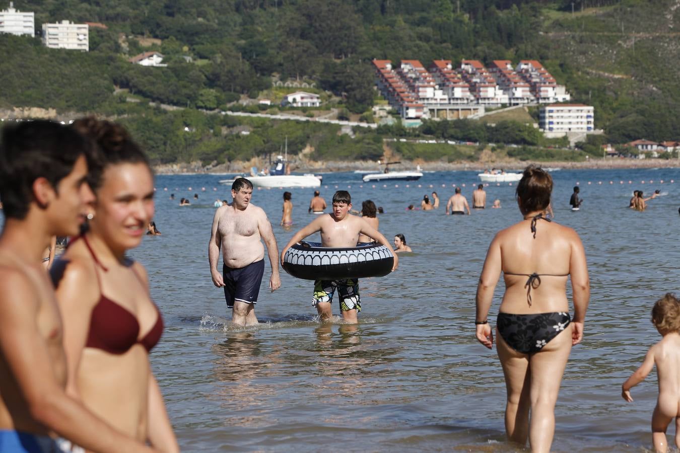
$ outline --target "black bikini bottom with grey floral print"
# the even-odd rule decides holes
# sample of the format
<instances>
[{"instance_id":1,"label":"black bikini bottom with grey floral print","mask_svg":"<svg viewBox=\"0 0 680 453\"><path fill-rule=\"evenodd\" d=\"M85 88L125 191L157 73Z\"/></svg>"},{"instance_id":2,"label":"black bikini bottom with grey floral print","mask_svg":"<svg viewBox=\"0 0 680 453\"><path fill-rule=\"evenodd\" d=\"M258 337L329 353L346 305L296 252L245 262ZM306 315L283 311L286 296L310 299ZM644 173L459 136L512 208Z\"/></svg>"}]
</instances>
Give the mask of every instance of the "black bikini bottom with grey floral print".
<instances>
[{"instance_id":1,"label":"black bikini bottom with grey floral print","mask_svg":"<svg viewBox=\"0 0 680 453\"><path fill-rule=\"evenodd\" d=\"M539 314L498 313L496 327L503 340L522 354L539 352L571 323L566 312Z\"/></svg>"}]
</instances>

